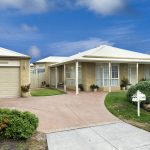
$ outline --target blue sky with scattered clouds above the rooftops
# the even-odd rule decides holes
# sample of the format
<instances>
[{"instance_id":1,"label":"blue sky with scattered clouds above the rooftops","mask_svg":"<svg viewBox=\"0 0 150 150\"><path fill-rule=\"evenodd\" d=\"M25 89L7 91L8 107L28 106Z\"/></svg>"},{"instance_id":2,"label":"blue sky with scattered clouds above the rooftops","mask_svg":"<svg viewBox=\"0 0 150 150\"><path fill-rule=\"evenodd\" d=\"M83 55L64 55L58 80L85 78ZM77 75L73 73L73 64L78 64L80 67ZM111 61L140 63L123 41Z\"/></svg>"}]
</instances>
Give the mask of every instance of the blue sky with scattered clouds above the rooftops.
<instances>
[{"instance_id":1,"label":"blue sky with scattered clouds above the rooftops","mask_svg":"<svg viewBox=\"0 0 150 150\"><path fill-rule=\"evenodd\" d=\"M0 0L0 46L69 56L101 44L150 53L149 0Z\"/></svg>"}]
</instances>

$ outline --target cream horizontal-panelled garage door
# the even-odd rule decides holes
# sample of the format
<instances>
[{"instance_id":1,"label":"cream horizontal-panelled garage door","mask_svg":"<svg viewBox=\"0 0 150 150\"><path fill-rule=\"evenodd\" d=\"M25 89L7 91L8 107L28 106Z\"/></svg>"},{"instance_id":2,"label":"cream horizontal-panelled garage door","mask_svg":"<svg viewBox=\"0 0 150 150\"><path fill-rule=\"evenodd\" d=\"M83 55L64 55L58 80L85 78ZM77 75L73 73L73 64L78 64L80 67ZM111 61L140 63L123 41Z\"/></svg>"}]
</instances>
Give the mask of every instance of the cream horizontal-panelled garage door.
<instances>
[{"instance_id":1,"label":"cream horizontal-panelled garage door","mask_svg":"<svg viewBox=\"0 0 150 150\"><path fill-rule=\"evenodd\" d=\"M0 67L0 97L20 96L19 68Z\"/></svg>"}]
</instances>

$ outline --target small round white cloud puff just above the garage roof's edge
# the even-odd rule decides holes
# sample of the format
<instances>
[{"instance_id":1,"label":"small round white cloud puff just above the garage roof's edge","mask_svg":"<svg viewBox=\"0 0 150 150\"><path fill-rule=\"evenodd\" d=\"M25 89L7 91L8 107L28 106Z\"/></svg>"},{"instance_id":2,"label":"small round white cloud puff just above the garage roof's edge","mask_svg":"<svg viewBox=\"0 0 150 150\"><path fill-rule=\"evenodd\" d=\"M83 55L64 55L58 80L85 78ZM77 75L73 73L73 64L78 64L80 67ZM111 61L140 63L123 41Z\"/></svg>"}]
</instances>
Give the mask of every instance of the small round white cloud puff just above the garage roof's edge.
<instances>
[{"instance_id":1,"label":"small round white cloud puff just above the garage roof's edge","mask_svg":"<svg viewBox=\"0 0 150 150\"><path fill-rule=\"evenodd\" d=\"M31 46L29 49L29 55L34 58L38 58L41 55L40 49L37 46Z\"/></svg>"}]
</instances>

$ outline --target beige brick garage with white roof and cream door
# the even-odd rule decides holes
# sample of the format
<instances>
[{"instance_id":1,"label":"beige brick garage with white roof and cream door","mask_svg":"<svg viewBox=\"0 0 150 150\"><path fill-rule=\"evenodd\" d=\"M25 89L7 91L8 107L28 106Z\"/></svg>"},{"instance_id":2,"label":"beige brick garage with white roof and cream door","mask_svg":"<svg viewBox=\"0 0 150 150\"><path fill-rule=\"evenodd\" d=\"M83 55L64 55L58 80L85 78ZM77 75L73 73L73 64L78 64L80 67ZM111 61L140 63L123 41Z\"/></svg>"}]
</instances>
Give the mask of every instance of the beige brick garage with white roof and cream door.
<instances>
[{"instance_id":1,"label":"beige brick garage with white roof and cream door","mask_svg":"<svg viewBox=\"0 0 150 150\"><path fill-rule=\"evenodd\" d=\"M21 96L21 85L30 83L30 57L0 48L0 97Z\"/></svg>"}]
</instances>

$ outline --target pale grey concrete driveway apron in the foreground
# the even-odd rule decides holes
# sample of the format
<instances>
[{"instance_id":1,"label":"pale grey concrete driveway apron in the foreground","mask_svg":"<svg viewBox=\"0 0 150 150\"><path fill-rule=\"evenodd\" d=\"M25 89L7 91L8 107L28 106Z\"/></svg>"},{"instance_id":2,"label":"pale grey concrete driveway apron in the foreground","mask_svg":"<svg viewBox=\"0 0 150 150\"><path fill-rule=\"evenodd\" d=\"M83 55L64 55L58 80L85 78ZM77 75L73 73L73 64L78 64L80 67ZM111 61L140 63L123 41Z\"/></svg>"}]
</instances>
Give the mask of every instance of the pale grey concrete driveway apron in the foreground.
<instances>
[{"instance_id":1,"label":"pale grey concrete driveway apron in the foreground","mask_svg":"<svg viewBox=\"0 0 150 150\"><path fill-rule=\"evenodd\" d=\"M150 133L120 122L47 135L49 150L150 150Z\"/></svg>"}]
</instances>

